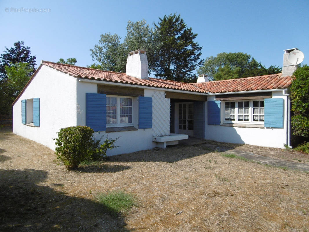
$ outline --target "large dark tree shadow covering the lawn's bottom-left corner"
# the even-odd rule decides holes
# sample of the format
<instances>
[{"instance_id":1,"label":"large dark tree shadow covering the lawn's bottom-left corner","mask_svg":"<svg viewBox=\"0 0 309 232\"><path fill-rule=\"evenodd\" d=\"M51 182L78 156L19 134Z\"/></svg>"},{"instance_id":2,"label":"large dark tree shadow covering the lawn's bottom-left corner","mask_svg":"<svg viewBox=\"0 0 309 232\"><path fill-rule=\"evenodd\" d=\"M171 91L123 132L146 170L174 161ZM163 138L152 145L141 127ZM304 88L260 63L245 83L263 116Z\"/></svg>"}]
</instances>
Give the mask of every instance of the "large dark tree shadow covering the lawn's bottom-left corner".
<instances>
[{"instance_id":1,"label":"large dark tree shadow covering the lawn's bottom-left corner","mask_svg":"<svg viewBox=\"0 0 309 232\"><path fill-rule=\"evenodd\" d=\"M95 201L39 183L43 170L0 170L0 231L129 231Z\"/></svg>"}]
</instances>

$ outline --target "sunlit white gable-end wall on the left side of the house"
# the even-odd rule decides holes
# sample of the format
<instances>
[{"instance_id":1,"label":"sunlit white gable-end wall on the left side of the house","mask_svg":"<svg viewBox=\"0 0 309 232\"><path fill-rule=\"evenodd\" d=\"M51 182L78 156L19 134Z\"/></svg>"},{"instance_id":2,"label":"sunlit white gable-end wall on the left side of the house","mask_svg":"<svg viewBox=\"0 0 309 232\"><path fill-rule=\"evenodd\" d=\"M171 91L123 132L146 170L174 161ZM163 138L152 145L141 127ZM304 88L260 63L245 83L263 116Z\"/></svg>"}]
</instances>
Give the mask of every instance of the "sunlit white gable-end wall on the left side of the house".
<instances>
[{"instance_id":1,"label":"sunlit white gable-end wall on the left side of the house","mask_svg":"<svg viewBox=\"0 0 309 232\"><path fill-rule=\"evenodd\" d=\"M54 150L57 131L76 125L76 81L43 65L13 106L13 133ZM21 122L21 100L36 97L40 98L40 127L30 127Z\"/></svg>"}]
</instances>

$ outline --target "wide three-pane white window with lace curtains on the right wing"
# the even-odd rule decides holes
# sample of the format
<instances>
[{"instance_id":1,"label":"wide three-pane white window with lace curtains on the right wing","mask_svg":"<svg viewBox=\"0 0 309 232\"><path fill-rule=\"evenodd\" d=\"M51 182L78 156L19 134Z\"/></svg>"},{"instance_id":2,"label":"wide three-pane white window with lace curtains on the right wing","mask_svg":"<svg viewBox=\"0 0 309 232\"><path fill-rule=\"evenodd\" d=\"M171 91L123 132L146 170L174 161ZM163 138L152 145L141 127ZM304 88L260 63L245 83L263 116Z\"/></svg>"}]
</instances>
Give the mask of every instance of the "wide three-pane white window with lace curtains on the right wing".
<instances>
[{"instance_id":1,"label":"wide three-pane white window with lace curtains on the right wing","mask_svg":"<svg viewBox=\"0 0 309 232\"><path fill-rule=\"evenodd\" d=\"M264 122L264 100L225 101L225 122Z\"/></svg>"}]
</instances>

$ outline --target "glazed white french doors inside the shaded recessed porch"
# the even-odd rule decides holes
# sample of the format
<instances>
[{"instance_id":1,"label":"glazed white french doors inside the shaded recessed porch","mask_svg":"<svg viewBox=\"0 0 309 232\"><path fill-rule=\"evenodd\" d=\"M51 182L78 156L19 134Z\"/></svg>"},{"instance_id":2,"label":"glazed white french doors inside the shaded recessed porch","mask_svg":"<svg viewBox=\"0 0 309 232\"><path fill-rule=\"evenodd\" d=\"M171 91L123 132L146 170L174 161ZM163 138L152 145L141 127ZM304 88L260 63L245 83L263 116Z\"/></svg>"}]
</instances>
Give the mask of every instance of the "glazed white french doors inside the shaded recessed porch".
<instances>
[{"instance_id":1,"label":"glazed white french doors inside the shaded recessed porch","mask_svg":"<svg viewBox=\"0 0 309 232\"><path fill-rule=\"evenodd\" d=\"M193 103L179 103L178 133L193 136Z\"/></svg>"}]
</instances>

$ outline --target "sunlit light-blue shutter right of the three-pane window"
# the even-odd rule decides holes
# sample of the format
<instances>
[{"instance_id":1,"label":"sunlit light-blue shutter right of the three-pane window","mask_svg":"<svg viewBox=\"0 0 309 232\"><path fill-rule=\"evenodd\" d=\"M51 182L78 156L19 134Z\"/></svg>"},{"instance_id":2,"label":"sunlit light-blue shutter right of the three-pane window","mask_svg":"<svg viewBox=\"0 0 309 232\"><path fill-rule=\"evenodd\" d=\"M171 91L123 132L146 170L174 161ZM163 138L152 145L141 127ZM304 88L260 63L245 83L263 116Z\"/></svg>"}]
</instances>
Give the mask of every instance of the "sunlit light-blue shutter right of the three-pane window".
<instances>
[{"instance_id":1,"label":"sunlit light-blue shutter right of the three-pane window","mask_svg":"<svg viewBox=\"0 0 309 232\"><path fill-rule=\"evenodd\" d=\"M283 98L267 98L264 100L265 127L283 127Z\"/></svg>"}]
</instances>

